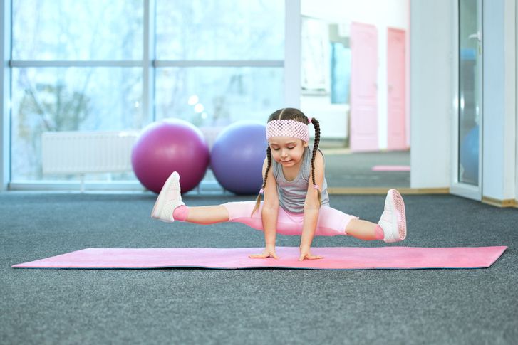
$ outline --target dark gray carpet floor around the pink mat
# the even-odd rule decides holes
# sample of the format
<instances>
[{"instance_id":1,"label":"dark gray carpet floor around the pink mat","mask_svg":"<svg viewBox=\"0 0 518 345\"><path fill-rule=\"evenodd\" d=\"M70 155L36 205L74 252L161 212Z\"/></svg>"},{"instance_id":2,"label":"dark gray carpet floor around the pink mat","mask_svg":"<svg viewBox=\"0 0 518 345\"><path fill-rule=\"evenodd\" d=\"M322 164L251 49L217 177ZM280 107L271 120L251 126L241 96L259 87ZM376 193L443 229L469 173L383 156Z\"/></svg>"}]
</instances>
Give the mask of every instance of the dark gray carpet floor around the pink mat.
<instances>
[{"instance_id":1,"label":"dark gray carpet floor around the pink mat","mask_svg":"<svg viewBox=\"0 0 518 345\"><path fill-rule=\"evenodd\" d=\"M188 196L187 205L249 200ZM383 196L331 196L377 221ZM475 270L24 270L83 248L259 247L237 223L153 221L152 194L0 193L1 344L516 344L518 210L405 196L422 247L507 245ZM278 236L278 245L299 238ZM314 246L382 246L337 236Z\"/></svg>"}]
</instances>

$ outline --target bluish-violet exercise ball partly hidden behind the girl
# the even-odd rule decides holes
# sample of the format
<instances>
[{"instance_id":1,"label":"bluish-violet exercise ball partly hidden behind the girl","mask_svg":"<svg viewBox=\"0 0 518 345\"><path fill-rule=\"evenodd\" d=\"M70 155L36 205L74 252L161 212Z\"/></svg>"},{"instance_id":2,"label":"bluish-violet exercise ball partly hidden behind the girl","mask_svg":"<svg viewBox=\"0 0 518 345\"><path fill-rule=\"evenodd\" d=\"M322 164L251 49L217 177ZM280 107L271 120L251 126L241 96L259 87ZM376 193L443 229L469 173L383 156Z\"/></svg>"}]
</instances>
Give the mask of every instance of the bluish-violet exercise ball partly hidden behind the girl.
<instances>
[{"instance_id":1,"label":"bluish-violet exercise ball partly hidden behind the girl","mask_svg":"<svg viewBox=\"0 0 518 345\"><path fill-rule=\"evenodd\" d=\"M223 129L210 153L210 164L219 184L232 193L259 193L266 157L266 126L240 121Z\"/></svg>"}]
</instances>

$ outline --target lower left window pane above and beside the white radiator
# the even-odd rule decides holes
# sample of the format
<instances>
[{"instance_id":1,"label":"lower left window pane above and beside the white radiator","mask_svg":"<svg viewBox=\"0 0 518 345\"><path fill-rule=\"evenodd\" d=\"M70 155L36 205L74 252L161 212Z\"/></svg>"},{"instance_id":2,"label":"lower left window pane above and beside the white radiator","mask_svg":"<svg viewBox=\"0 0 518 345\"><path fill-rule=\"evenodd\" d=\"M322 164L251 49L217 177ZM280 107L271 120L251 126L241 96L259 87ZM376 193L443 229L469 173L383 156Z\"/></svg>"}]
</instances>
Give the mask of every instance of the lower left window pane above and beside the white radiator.
<instances>
[{"instance_id":1,"label":"lower left window pane above and beside the white radiator","mask_svg":"<svg viewBox=\"0 0 518 345\"><path fill-rule=\"evenodd\" d=\"M38 180L41 133L140 129L140 68L13 68L13 180Z\"/></svg>"}]
</instances>

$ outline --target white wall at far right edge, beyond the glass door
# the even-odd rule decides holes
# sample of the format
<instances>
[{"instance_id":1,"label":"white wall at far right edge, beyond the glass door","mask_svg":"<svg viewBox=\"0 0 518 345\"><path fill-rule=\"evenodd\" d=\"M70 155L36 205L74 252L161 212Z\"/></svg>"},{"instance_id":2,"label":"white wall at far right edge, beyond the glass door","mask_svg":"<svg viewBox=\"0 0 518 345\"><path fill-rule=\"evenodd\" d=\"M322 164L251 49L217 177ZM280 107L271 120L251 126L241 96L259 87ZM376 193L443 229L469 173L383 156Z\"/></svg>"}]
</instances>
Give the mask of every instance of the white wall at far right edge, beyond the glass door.
<instances>
[{"instance_id":1,"label":"white wall at far right edge, beyond the glass door","mask_svg":"<svg viewBox=\"0 0 518 345\"><path fill-rule=\"evenodd\" d=\"M516 198L516 4L483 3L482 195Z\"/></svg>"}]
</instances>

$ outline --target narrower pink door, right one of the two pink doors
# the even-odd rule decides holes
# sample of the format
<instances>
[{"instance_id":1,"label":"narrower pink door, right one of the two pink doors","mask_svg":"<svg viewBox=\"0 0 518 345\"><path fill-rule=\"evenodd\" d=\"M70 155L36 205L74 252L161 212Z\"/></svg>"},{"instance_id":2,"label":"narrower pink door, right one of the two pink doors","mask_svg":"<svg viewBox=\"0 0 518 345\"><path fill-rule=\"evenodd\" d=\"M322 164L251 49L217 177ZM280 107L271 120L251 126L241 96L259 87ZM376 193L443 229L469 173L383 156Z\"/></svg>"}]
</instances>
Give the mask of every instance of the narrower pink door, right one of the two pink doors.
<instances>
[{"instance_id":1,"label":"narrower pink door, right one of the two pink doors","mask_svg":"<svg viewBox=\"0 0 518 345\"><path fill-rule=\"evenodd\" d=\"M387 32L387 146L389 150L408 149L406 143L405 31Z\"/></svg>"}]
</instances>

